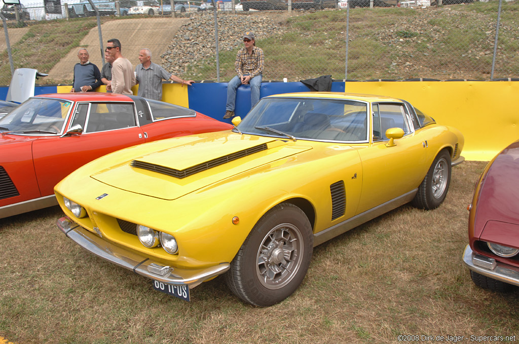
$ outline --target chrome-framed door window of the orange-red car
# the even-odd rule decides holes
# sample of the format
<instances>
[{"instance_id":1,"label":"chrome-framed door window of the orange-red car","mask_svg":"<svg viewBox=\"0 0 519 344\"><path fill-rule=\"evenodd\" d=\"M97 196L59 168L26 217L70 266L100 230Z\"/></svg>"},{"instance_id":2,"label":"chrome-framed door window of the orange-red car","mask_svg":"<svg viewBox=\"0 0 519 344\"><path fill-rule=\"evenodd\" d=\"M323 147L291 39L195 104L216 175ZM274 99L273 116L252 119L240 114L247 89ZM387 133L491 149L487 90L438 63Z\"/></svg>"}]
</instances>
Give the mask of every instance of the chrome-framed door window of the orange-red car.
<instances>
[{"instance_id":1,"label":"chrome-framed door window of the orange-red car","mask_svg":"<svg viewBox=\"0 0 519 344\"><path fill-rule=\"evenodd\" d=\"M104 132L133 126L136 126L133 103L92 103L85 132Z\"/></svg>"}]
</instances>

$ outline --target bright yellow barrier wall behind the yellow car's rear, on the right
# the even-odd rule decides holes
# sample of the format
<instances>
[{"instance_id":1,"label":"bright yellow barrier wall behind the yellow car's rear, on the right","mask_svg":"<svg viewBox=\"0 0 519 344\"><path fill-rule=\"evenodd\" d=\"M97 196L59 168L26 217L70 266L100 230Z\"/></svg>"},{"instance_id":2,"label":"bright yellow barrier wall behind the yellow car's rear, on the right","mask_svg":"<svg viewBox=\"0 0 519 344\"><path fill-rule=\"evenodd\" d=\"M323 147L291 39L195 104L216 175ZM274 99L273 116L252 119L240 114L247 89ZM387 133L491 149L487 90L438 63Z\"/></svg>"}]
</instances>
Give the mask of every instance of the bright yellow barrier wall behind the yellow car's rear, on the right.
<instances>
[{"instance_id":1,"label":"bright yellow barrier wall behind the yellow car's rear, on the right","mask_svg":"<svg viewBox=\"0 0 519 344\"><path fill-rule=\"evenodd\" d=\"M466 160L489 161L519 138L516 81L346 82L346 92L402 98L465 136Z\"/></svg>"}]
</instances>

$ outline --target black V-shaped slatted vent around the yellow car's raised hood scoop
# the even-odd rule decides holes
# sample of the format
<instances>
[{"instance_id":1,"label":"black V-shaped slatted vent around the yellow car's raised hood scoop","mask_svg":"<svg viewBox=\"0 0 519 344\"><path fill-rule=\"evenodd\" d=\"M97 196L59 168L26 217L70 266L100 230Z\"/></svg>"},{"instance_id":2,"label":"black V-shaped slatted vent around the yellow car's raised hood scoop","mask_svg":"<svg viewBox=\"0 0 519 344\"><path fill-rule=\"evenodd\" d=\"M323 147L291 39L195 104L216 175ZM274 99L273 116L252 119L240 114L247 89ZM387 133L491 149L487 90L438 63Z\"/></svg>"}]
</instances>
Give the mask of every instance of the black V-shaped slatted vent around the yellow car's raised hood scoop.
<instances>
[{"instance_id":1,"label":"black V-shaped slatted vent around the yellow car's raised hood scoop","mask_svg":"<svg viewBox=\"0 0 519 344\"><path fill-rule=\"evenodd\" d=\"M261 151L264 151L267 149L268 149L267 144L262 144L262 145L254 146L251 148L243 149L241 151L237 151L237 152L225 155L225 156L217 157L216 159L209 160L204 163L185 168L183 170L177 170L174 168L160 166L160 165L147 163L147 162L139 161L139 160L132 160L132 162L130 163L130 166L135 167L135 168L142 168L142 169L154 171L154 172L157 172L157 173L160 173L163 175L182 179L182 178L197 174L201 171L205 171L210 168L226 164L233 160L240 159L240 157L251 155L251 154L261 152Z\"/></svg>"}]
</instances>

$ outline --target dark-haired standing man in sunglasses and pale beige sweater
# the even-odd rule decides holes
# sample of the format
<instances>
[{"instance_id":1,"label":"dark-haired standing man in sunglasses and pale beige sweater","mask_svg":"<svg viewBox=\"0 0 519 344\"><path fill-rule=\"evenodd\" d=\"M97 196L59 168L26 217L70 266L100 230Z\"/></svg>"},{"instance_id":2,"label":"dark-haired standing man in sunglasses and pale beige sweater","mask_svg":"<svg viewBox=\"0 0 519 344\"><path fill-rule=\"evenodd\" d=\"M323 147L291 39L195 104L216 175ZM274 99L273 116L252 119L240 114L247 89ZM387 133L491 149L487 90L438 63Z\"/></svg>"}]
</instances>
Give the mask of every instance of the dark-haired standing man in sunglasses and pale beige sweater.
<instances>
[{"instance_id":1,"label":"dark-haired standing man in sunglasses and pale beige sweater","mask_svg":"<svg viewBox=\"0 0 519 344\"><path fill-rule=\"evenodd\" d=\"M135 85L135 74L131 62L121 54L121 42L117 38L108 39L106 55L112 62L112 93L133 94L131 88Z\"/></svg>"}]
</instances>

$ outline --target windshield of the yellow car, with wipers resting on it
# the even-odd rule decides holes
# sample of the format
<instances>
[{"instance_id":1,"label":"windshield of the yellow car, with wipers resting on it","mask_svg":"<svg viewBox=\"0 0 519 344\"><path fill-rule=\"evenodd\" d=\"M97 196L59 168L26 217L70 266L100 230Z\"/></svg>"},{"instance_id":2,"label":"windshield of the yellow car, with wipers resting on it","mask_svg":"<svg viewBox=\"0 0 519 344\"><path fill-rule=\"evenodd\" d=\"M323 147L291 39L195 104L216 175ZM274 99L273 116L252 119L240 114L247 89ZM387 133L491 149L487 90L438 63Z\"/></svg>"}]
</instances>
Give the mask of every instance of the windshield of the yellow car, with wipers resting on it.
<instances>
[{"instance_id":1,"label":"windshield of the yellow car, with wipers resting on it","mask_svg":"<svg viewBox=\"0 0 519 344\"><path fill-rule=\"evenodd\" d=\"M367 103L328 98L263 98L238 127L243 133L269 136L366 141Z\"/></svg>"}]
</instances>

